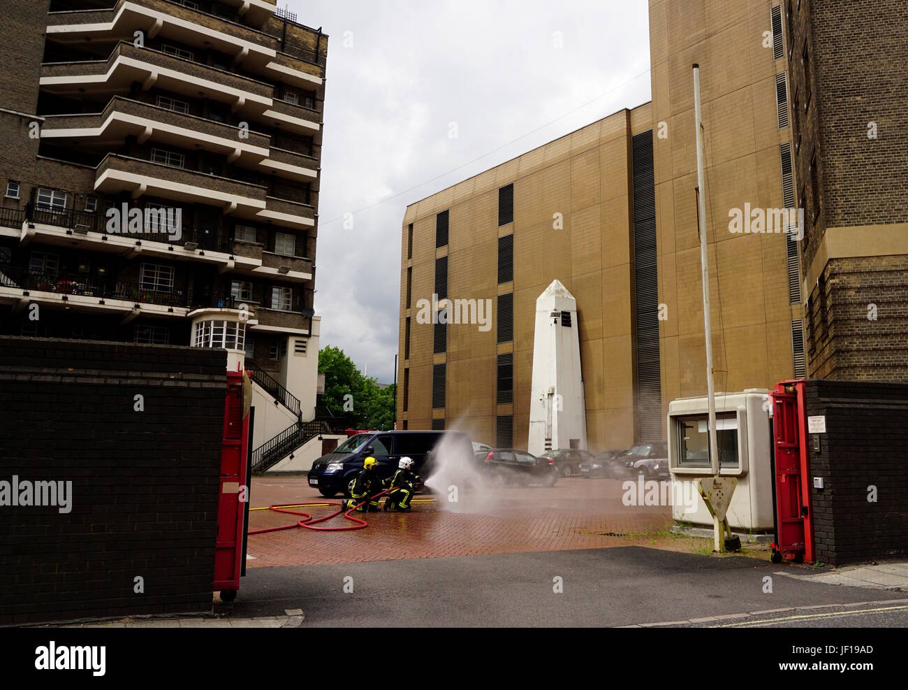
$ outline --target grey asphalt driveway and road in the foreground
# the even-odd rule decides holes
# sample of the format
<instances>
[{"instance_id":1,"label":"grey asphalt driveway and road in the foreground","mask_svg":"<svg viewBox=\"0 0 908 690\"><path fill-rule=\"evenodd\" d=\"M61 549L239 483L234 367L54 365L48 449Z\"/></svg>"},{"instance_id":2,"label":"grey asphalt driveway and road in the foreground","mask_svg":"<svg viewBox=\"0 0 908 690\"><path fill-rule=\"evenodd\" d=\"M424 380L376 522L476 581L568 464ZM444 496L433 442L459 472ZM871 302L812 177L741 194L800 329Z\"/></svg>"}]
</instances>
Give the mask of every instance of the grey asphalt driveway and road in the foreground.
<instances>
[{"instance_id":1,"label":"grey asphalt driveway and road in the foreground","mask_svg":"<svg viewBox=\"0 0 908 690\"><path fill-rule=\"evenodd\" d=\"M304 627L908 626L908 595L776 575L783 567L638 546L264 567L243 579L232 615L283 615L301 608ZM767 576L772 594L764 592ZM561 594L553 591L556 577ZM345 584L352 593L344 592ZM893 600L863 606L886 609L878 613L842 606ZM817 605L838 606L778 611ZM838 615L820 615L827 613ZM725 615L747 616L712 619ZM794 617L804 615L811 617Z\"/></svg>"}]
</instances>

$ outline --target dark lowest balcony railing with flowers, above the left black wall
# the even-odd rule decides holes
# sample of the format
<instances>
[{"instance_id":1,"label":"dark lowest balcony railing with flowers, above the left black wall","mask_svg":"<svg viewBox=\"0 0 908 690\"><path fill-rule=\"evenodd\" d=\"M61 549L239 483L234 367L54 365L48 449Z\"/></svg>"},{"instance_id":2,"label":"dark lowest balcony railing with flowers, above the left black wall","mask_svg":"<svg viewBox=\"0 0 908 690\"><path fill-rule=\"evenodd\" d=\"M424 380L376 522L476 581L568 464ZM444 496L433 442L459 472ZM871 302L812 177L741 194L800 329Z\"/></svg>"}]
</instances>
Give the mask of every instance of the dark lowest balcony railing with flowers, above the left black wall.
<instances>
[{"instance_id":1,"label":"dark lowest balcony railing with flowers, above the left black wall","mask_svg":"<svg viewBox=\"0 0 908 690\"><path fill-rule=\"evenodd\" d=\"M54 293L119 299L151 305L188 306L183 290L154 288L130 281L98 279L84 274L36 273L30 268L0 265L0 286Z\"/></svg>"}]
</instances>

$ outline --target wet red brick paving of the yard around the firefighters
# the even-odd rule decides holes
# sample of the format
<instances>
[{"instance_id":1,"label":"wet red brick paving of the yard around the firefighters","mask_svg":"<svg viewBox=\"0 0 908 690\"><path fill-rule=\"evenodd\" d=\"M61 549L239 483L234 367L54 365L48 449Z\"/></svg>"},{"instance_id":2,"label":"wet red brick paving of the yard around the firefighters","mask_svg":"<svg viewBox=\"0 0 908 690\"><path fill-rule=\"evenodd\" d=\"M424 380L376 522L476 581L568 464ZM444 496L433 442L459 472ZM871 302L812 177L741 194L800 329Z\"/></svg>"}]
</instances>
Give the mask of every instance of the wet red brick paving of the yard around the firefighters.
<instances>
[{"instance_id":1,"label":"wet red brick paving of the yard around the firefighters","mask_svg":"<svg viewBox=\"0 0 908 690\"><path fill-rule=\"evenodd\" d=\"M562 479L547 487L487 490L483 500L461 495L458 511L444 509L446 496L413 504L409 514L366 516L369 526L350 532L319 533L297 528L250 535L247 567L320 565L401 558L505 554L528 551L607 548L647 544L672 525L670 506L625 506L621 482ZM255 477L252 507L277 503L318 503L328 499L305 477ZM418 495L417 500L429 498ZM334 507L299 508L315 517ZM292 515L252 510L250 529L289 525ZM341 516L325 526L352 524Z\"/></svg>"}]
</instances>

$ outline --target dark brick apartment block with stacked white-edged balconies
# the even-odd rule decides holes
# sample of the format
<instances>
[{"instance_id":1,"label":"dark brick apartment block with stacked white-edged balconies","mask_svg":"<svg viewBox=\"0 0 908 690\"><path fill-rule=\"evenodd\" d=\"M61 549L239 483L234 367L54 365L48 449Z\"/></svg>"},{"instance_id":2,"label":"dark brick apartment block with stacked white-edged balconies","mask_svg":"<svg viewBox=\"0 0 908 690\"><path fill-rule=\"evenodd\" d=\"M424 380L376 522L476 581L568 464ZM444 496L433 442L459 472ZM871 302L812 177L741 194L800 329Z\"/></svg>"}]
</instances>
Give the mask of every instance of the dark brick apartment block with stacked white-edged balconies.
<instances>
[{"instance_id":1,"label":"dark brick apartment block with stacked white-edged balconies","mask_svg":"<svg viewBox=\"0 0 908 690\"><path fill-rule=\"evenodd\" d=\"M222 347L257 441L310 420L328 36L274 0L0 19L0 333Z\"/></svg>"}]
</instances>

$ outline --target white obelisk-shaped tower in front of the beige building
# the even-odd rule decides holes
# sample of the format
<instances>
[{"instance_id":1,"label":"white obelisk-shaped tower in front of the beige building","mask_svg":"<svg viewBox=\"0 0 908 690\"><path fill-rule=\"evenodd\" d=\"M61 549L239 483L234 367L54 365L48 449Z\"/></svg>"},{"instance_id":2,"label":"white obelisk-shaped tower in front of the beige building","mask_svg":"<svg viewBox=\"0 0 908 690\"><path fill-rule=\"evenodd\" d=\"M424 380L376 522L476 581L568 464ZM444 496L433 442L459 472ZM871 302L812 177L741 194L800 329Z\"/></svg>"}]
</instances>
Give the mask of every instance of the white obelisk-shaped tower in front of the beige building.
<instances>
[{"instance_id":1,"label":"white obelisk-shaped tower in front of the beige building","mask_svg":"<svg viewBox=\"0 0 908 690\"><path fill-rule=\"evenodd\" d=\"M577 300L557 280L536 300L528 451L587 449Z\"/></svg>"}]
</instances>

